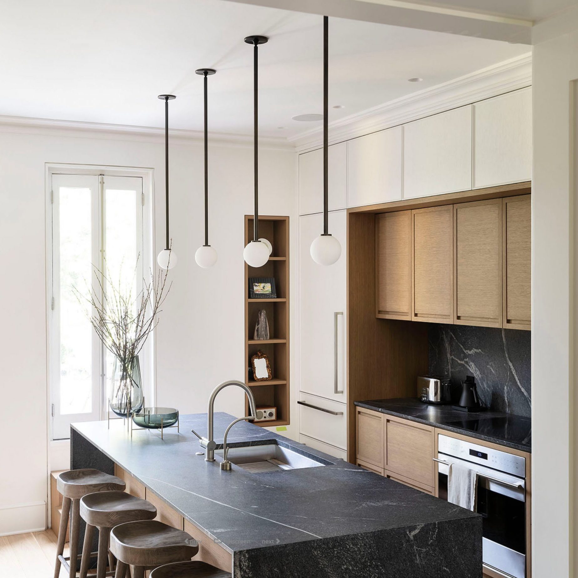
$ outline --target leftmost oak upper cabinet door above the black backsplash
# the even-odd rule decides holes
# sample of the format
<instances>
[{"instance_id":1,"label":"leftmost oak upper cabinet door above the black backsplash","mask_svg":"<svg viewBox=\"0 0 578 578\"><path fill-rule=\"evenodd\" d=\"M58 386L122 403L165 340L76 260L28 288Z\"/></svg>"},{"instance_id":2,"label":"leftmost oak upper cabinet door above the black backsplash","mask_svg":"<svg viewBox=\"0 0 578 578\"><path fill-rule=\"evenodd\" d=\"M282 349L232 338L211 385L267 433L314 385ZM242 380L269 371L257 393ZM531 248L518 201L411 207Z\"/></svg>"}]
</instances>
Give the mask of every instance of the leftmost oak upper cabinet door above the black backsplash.
<instances>
[{"instance_id":1,"label":"leftmost oak upper cabinet door above the black backsplash","mask_svg":"<svg viewBox=\"0 0 578 578\"><path fill-rule=\"evenodd\" d=\"M375 218L376 316L412 317L412 212L378 214Z\"/></svg>"}]
</instances>

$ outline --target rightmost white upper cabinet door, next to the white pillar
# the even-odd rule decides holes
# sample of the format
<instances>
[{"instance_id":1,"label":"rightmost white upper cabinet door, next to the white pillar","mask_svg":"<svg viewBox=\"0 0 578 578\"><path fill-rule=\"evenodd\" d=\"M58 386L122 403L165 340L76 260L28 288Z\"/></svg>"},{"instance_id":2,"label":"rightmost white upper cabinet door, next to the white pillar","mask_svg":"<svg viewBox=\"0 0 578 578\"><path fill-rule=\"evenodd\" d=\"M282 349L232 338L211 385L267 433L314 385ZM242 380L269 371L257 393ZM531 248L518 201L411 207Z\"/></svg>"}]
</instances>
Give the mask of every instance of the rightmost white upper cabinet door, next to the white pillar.
<instances>
[{"instance_id":1,"label":"rightmost white upper cabinet door, next to the white pillar","mask_svg":"<svg viewBox=\"0 0 578 578\"><path fill-rule=\"evenodd\" d=\"M532 89L473 105L474 188L532 179Z\"/></svg>"}]
</instances>

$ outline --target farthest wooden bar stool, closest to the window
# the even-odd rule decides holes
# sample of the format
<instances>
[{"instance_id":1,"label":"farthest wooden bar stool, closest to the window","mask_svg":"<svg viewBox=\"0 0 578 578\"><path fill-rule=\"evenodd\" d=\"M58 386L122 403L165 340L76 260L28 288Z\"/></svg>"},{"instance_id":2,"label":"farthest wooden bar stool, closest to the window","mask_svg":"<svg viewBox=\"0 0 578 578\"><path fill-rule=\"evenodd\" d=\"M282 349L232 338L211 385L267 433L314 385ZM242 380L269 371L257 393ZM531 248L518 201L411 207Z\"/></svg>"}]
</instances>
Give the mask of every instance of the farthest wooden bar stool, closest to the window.
<instances>
[{"instance_id":1,"label":"farthest wooden bar stool, closest to the window","mask_svg":"<svg viewBox=\"0 0 578 578\"><path fill-rule=\"evenodd\" d=\"M120 477L111 476L108 473L99 472L95 469L77 469L61 472L56 478L57 490L62 494L62 514L60 516L60 528L58 528L58 542L56 546L56 564L54 578L60 575L60 566L64 565L70 578L76 576L78 564L78 537L80 526L80 498L93 492L108 490L124 490L125 483ZM70 556L65 558L64 540L66 538L66 526L68 519L71 521L70 529Z\"/></svg>"}]
</instances>

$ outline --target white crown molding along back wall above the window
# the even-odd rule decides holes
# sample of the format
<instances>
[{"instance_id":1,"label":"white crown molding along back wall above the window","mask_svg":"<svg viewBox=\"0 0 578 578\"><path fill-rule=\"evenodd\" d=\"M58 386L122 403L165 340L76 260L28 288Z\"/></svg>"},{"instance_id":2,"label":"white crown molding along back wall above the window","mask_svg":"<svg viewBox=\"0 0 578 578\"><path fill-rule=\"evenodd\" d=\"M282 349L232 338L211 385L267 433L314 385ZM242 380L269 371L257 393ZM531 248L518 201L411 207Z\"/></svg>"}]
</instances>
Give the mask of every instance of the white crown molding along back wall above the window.
<instances>
[{"instance_id":1,"label":"white crown molding along back wall above the window","mask_svg":"<svg viewBox=\"0 0 578 578\"><path fill-rule=\"evenodd\" d=\"M54 120L52 118L31 118L0 115L0 132L21 134L44 134L106 140L137 140L138 142L164 142L165 129L139 127L123 124L88 123L75 120ZM170 129L172 143L202 142L202 131ZM210 144L224 146L252 147L252 135L238 135L221 132L209 133ZM261 137L260 147L264 149L294 150L294 144L284 137Z\"/></svg>"}]
</instances>

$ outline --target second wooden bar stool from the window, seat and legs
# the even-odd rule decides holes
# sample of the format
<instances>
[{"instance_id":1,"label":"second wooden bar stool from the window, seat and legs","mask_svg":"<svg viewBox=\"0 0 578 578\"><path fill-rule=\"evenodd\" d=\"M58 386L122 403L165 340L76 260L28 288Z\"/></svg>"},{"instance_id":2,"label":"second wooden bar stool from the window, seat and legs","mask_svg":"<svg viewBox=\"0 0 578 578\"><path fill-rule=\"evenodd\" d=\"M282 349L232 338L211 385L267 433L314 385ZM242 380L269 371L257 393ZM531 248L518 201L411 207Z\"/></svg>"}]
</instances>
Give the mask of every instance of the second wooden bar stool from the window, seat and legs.
<instances>
[{"instance_id":1,"label":"second wooden bar stool from the window, seat and legs","mask_svg":"<svg viewBox=\"0 0 578 578\"><path fill-rule=\"evenodd\" d=\"M98 528L98 561L97 578L105 578L106 561L112 570L112 555L109 555L110 530L118 524L152 520L157 516L157 509L146 500L121 491L97 492L87 494L80 499L80 517L86 522L84 546L80 564L80 578L86 578L90 551L92 549L92 532ZM112 572L109 573L113 575Z\"/></svg>"}]
</instances>

